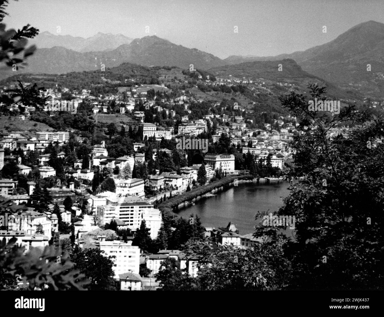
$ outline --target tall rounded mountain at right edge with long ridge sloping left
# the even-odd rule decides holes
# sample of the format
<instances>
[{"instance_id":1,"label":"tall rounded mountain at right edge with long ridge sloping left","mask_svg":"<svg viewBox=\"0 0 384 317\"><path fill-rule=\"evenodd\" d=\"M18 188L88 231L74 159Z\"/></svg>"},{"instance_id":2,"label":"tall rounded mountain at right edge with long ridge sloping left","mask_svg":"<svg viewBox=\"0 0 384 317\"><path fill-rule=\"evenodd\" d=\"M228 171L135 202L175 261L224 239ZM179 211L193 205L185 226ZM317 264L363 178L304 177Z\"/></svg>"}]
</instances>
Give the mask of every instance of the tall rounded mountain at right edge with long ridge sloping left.
<instances>
[{"instance_id":1,"label":"tall rounded mountain at right edge with long ridge sloping left","mask_svg":"<svg viewBox=\"0 0 384 317\"><path fill-rule=\"evenodd\" d=\"M360 23L333 41L305 51L278 56L230 56L224 61L237 64L247 61L295 60L304 71L346 89L382 96L384 93L384 24ZM367 71L371 64L371 71Z\"/></svg>"}]
</instances>

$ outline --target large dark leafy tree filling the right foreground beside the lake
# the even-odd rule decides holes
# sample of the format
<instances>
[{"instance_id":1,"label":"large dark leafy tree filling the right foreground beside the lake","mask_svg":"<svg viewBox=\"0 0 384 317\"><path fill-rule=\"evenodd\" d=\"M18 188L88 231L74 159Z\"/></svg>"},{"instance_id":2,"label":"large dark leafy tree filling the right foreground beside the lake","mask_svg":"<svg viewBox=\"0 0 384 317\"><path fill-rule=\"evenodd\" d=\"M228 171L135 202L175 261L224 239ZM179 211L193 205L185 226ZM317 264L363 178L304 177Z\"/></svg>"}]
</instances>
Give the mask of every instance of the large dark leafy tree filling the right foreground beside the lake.
<instances>
[{"instance_id":1,"label":"large dark leafy tree filling the right foreground beside the lake","mask_svg":"<svg viewBox=\"0 0 384 317\"><path fill-rule=\"evenodd\" d=\"M308 88L312 100L325 100L324 87ZM384 151L383 145L371 143L383 137L383 117L353 106L338 115L310 111L306 97L294 92L281 103L298 115L303 130L310 128L291 142L295 168L287 174L303 182L290 187L279 210L279 215L300 219L296 241L287 248L295 268L291 287L382 289L384 171L377 167ZM329 137L329 130L343 122L365 123L349 131L348 138Z\"/></svg>"}]
</instances>

